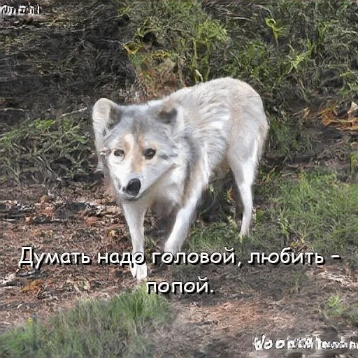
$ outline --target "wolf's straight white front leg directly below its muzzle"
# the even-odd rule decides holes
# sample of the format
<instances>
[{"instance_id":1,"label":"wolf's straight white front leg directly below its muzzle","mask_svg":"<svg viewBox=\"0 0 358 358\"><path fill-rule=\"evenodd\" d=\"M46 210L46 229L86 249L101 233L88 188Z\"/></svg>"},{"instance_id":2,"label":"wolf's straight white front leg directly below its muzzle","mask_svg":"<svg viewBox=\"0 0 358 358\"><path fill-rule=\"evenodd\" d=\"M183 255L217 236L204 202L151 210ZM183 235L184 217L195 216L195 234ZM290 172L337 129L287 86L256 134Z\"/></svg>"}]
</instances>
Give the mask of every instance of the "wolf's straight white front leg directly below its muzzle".
<instances>
[{"instance_id":1,"label":"wolf's straight white front leg directly below its muzzle","mask_svg":"<svg viewBox=\"0 0 358 358\"><path fill-rule=\"evenodd\" d=\"M132 255L136 252L144 252L144 215L148 206L138 202L122 203L124 217L129 227L129 234L131 235ZM131 274L137 280L143 280L148 275L147 264L138 265L133 262L131 267Z\"/></svg>"}]
</instances>

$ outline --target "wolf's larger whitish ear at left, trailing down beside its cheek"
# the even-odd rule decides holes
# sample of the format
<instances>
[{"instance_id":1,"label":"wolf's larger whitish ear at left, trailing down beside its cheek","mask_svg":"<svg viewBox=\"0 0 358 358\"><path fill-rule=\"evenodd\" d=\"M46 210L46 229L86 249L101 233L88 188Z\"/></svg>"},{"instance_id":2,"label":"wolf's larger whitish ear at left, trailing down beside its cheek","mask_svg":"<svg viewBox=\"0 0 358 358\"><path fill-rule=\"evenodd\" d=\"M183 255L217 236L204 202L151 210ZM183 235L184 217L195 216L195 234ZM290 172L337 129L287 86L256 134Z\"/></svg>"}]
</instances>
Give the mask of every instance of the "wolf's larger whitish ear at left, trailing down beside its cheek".
<instances>
[{"instance_id":1,"label":"wolf's larger whitish ear at left, trailing down beside its cheek","mask_svg":"<svg viewBox=\"0 0 358 358\"><path fill-rule=\"evenodd\" d=\"M94 103L92 110L92 125L94 130L94 145L96 154L100 157L103 146L103 137L106 136L110 127L114 123L120 122L122 107L110 101L110 99L101 98ZM97 171L101 171L101 160L97 166Z\"/></svg>"}]
</instances>

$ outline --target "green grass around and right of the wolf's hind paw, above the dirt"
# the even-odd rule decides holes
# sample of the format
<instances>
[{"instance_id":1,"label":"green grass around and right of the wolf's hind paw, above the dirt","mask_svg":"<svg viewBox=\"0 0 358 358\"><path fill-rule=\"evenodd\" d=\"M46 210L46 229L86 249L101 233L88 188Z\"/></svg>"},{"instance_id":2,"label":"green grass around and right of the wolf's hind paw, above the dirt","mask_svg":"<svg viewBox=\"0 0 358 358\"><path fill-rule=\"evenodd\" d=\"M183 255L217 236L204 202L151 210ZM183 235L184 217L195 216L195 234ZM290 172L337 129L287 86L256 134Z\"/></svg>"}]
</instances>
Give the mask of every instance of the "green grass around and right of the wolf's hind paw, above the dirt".
<instances>
[{"instance_id":1,"label":"green grass around and right of the wolf's hind paw, above the dirt","mask_svg":"<svg viewBox=\"0 0 358 358\"><path fill-rule=\"evenodd\" d=\"M351 253L358 248L358 185L340 182L335 173L313 171L298 177L275 177L257 187L264 196L252 234L243 245L229 222L196 225L189 250L275 250L290 245L322 255Z\"/></svg>"}]
</instances>

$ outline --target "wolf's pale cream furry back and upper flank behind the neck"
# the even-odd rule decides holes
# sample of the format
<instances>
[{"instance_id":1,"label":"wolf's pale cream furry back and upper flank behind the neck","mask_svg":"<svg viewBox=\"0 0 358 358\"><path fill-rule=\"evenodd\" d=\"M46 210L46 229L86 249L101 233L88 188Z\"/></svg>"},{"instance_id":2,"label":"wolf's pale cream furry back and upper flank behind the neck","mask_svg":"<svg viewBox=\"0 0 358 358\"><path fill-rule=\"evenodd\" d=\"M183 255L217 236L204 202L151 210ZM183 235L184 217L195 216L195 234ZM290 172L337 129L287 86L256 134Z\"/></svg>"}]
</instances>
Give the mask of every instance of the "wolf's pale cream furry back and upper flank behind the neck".
<instances>
[{"instance_id":1,"label":"wolf's pale cream furry back and upper flank behind the neck","mask_svg":"<svg viewBox=\"0 0 358 358\"><path fill-rule=\"evenodd\" d=\"M224 152L230 143L257 141L261 157L268 120L261 96L248 83L218 78L185 87L166 100L185 108L187 131L207 150Z\"/></svg>"}]
</instances>

